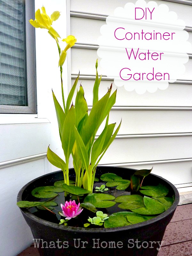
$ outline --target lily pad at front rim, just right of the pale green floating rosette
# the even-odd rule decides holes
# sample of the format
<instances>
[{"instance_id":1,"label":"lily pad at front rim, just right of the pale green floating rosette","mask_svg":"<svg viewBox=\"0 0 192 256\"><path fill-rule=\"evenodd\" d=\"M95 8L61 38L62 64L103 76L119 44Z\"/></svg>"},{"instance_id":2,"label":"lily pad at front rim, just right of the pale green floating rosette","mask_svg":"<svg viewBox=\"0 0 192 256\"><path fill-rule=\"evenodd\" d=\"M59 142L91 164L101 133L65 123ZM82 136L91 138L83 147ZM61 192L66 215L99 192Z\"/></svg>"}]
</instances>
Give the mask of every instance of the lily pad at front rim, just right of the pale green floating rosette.
<instances>
[{"instance_id":1,"label":"lily pad at front rim, just right of the pale green floating rosette","mask_svg":"<svg viewBox=\"0 0 192 256\"><path fill-rule=\"evenodd\" d=\"M126 216L129 212L116 212L109 216L104 222L105 228L118 228L131 225Z\"/></svg>"}]
</instances>

